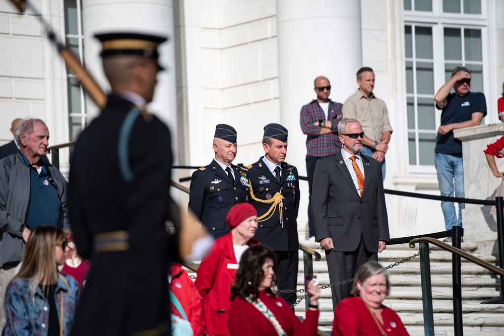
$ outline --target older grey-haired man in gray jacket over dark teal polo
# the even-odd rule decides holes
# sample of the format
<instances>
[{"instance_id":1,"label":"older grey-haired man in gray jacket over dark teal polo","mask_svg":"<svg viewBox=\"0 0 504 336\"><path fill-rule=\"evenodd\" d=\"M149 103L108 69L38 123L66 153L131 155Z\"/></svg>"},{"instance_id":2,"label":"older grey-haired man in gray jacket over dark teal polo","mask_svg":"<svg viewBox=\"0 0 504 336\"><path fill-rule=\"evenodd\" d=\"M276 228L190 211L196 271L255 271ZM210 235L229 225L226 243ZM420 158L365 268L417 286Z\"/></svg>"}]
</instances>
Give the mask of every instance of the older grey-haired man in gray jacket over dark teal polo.
<instances>
[{"instance_id":1,"label":"older grey-haired man in gray jacket over dark teal polo","mask_svg":"<svg viewBox=\"0 0 504 336\"><path fill-rule=\"evenodd\" d=\"M0 160L0 300L23 258L25 242L36 226L70 229L67 181L45 164L49 130L40 119L26 119L16 128L19 152ZM0 328L5 324L2 310Z\"/></svg>"}]
</instances>

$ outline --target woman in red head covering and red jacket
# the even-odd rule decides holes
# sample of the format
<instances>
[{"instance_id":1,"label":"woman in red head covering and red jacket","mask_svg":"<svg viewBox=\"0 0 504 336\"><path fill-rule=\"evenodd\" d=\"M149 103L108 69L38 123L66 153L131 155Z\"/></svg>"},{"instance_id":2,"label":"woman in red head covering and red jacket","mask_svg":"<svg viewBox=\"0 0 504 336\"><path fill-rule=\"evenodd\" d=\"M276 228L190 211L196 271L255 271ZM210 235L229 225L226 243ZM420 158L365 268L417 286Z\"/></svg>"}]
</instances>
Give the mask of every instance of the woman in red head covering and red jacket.
<instances>
[{"instance_id":1,"label":"woman in red head covering and red jacket","mask_svg":"<svg viewBox=\"0 0 504 336\"><path fill-rule=\"evenodd\" d=\"M230 287L234 282L242 253L253 244L257 230L257 211L249 203L231 208L226 216L231 232L214 243L212 251L201 262L195 285L203 301L206 331L210 336L228 335Z\"/></svg>"}]
</instances>

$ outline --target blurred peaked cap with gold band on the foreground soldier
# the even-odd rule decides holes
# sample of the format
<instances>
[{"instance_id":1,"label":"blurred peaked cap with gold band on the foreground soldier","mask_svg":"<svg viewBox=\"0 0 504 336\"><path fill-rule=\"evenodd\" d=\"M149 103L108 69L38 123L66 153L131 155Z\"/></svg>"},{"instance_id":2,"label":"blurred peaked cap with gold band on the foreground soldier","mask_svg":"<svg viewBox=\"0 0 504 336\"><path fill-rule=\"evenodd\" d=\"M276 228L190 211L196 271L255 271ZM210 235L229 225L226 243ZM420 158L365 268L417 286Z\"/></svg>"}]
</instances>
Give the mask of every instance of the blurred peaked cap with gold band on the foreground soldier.
<instances>
[{"instance_id":1,"label":"blurred peaked cap with gold band on the foreground soldier","mask_svg":"<svg viewBox=\"0 0 504 336\"><path fill-rule=\"evenodd\" d=\"M107 57L112 55L138 55L154 60L158 60L158 46L167 40L166 37L116 32L96 34L95 37L100 40L102 44L102 51L100 56ZM159 65L159 63L158 63ZM163 68L159 65L159 68Z\"/></svg>"}]
</instances>

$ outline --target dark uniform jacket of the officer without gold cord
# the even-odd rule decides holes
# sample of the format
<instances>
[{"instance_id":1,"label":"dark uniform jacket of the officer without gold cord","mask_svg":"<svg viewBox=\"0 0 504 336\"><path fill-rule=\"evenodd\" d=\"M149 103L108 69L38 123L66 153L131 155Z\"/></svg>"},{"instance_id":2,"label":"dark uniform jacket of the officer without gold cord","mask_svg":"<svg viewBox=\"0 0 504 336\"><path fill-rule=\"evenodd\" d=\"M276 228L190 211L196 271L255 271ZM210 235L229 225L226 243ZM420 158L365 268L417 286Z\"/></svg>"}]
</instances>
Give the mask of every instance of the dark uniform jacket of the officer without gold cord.
<instances>
[{"instance_id":1,"label":"dark uniform jacket of the officer without gold cord","mask_svg":"<svg viewBox=\"0 0 504 336\"><path fill-rule=\"evenodd\" d=\"M191 178L189 204L195 215L216 239L229 233L226 215L232 206L246 202L248 195L247 170L231 165L234 184L215 160L196 170Z\"/></svg>"}]
</instances>

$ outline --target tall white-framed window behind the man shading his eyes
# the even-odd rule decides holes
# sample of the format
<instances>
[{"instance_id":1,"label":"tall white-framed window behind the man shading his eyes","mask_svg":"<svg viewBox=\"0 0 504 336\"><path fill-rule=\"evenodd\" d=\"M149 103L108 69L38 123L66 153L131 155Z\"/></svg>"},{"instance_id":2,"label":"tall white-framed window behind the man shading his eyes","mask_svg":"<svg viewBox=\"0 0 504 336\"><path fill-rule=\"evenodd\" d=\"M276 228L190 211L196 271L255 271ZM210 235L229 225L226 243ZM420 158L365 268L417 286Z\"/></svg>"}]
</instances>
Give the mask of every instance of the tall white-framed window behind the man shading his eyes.
<instances>
[{"instance_id":1,"label":"tall white-framed window behind the man shading his eyes","mask_svg":"<svg viewBox=\"0 0 504 336\"><path fill-rule=\"evenodd\" d=\"M409 164L429 171L441 115L434 95L457 65L471 71L471 91L483 91L486 22L480 1L404 0L404 9Z\"/></svg>"}]
</instances>

